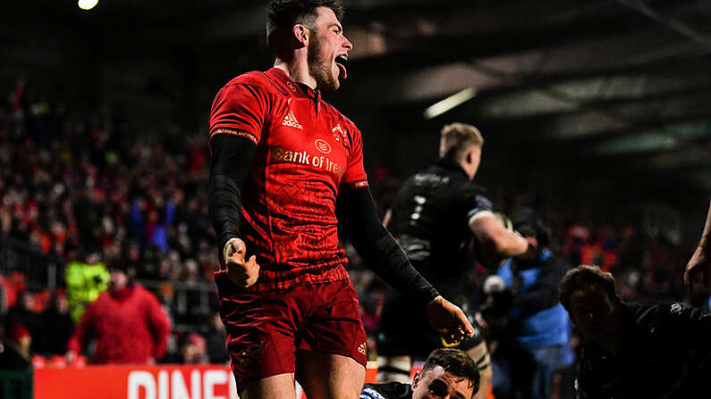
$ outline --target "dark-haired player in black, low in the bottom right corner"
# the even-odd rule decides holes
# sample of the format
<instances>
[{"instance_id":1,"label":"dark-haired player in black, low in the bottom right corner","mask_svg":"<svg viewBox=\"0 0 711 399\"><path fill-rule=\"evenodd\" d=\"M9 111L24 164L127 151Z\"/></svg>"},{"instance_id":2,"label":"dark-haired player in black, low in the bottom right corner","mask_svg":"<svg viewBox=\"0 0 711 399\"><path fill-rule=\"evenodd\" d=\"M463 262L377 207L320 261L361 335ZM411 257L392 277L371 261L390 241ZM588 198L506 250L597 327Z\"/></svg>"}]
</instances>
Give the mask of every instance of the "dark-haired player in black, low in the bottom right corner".
<instances>
[{"instance_id":1,"label":"dark-haired player in black, low in the bottom right corner","mask_svg":"<svg viewBox=\"0 0 711 399\"><path fill-rule=\"evenodd\" d=\"M681 303L625 303L612 274L582 265L559 297L580 335L580 399L708 397L711 315Z\"/></svg>"}]
</instances>

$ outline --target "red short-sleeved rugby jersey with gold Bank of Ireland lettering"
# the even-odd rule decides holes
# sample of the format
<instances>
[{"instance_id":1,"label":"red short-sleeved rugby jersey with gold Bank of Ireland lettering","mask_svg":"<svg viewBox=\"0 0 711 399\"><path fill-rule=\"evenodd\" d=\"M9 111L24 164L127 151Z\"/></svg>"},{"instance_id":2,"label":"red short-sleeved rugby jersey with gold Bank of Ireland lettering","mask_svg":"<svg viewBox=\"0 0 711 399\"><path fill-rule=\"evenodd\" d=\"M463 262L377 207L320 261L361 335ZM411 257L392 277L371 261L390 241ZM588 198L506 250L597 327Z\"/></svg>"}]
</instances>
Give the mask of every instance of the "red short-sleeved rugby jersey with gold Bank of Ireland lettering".
<instances>
[{"instance_id":1,"label":"red short-sleeved rugby jersey with gold Bank of Ireland lettering","mask_svg":"<svg viewBox=\"0 0 711 399\"><path fill-rule=\"evenodd\" d=\"M367 187L360 131L284 71L245 73L225 85L210 114L210 137L257 145L241 191L241 233L261 266L255 290L348 278L335 200Z\"/></svg>"}]
</instances>

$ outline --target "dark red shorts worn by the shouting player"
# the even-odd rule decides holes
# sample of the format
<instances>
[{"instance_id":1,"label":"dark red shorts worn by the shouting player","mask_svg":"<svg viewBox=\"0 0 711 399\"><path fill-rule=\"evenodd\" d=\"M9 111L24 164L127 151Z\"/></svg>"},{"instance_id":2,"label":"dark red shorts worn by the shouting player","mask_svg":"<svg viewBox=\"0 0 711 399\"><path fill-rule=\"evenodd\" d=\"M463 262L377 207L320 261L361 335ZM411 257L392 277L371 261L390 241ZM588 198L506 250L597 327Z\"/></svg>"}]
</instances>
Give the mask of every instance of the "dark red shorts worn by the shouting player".
<instances>
[{"instance_id":1,"label":"dark red shorts worn by the shouting player","mask_svg":"<svg viewBox=\"0 0 711 399\"><path fill-rule=\"evenodd\" d=\"M366 365L366 333L350 279L251 292L215 273L220 316L239 392L246 383L293 373L297 351L341 354Z\"/></svg>"}]
</instances>

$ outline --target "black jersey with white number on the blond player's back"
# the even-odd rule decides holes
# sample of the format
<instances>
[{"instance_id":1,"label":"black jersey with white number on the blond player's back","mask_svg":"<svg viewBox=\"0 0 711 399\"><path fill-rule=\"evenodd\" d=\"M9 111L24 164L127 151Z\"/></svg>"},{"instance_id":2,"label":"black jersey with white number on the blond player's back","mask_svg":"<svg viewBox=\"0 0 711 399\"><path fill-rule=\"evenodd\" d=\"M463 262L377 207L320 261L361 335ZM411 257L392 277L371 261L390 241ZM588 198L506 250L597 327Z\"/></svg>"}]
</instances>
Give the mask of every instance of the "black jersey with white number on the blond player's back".
<instances>
[{"instance_id":1,"label":"black jersey with white number on the blond player's back","mask_svg":"<svg viewBox=\"0 0 711 399\"><path fill-rule=\"evenodd\" d=\"M440 158L404 183L391 208L388 229L419 273L454 303L464 299L462 274L470 267L469 221L492 209L485 192L459 164Z\"/></svg>"}]
</instances>

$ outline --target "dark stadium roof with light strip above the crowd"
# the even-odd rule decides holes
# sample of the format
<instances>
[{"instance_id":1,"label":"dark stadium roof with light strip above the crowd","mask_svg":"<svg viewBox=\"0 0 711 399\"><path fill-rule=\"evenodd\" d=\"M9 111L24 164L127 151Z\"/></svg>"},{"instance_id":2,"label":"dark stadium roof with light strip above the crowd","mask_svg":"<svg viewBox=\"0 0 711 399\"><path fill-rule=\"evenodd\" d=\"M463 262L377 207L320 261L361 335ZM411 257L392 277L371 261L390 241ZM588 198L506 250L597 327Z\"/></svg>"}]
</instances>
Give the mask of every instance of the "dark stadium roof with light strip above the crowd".
<instances>
[{"instance_id":1,"label":"dark stadium roof with light strip above the crowd","mask_svg":"<svg viewBox=\"0 0 711 399\"><path fill-rule=\"evenodd\" d=\"M40 21L99 32L107 59L173 60L190 79L195 110L207 108L226 79L270 63L266 2L101 0L90 12L71 1L40 3ZM588 172L648 180L648 187L711 190L711 2L346 5L345 34L355 49L332 101L356 121L401 138L434 137L447 121L471 121L489 147L529 154L526 162L542 168L588 163ZM35 6L14 5L26 15ZM170 85L157 86L154 96ZM470 94L462 104L424 116L461 90Z\"/></svg>"}]
</instances>

